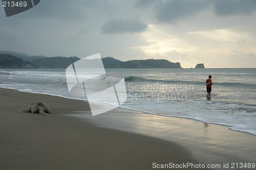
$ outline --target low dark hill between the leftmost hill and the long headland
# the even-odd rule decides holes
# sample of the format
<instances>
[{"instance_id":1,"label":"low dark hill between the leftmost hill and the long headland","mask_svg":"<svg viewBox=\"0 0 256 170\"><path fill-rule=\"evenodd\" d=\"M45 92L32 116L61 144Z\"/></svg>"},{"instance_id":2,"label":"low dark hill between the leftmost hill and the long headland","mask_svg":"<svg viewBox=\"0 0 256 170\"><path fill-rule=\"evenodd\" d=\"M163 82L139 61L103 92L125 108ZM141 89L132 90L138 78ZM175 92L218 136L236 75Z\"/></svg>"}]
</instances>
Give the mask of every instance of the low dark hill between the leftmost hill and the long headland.
<instances>
[{"instance_id":1,"label":"low dark hill between the leftmost hill and the long headland","mask_svg":"<svg viewBox=\"0 0 256 170\"><path fill-rule=\"evenodd\" d=\"M31 61L39 68L67 68L73 62L80 60L78 57L47 57Z\"/></svg>"}]
</instances>

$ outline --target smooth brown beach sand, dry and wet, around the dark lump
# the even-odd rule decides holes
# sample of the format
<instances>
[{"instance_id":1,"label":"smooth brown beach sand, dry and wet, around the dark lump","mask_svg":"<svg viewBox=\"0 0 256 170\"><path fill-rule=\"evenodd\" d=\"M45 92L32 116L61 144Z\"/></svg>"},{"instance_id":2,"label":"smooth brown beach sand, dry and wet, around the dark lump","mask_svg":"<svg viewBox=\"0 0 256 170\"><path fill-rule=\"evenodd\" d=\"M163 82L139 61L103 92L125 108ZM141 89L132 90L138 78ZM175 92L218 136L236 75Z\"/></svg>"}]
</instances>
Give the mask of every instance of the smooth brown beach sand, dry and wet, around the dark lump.
<instances>
[{"instance_id":1,"label":"smooth brown beach sand, dry and wet, around the dark lump","mask_svg":"<svg viewBox=\"0 0 256 170\"><path fill-rule=\"evenodd\" d=\"M0 169L153 169L153 163L255 162L256 137L185 118L0 88ZM35 101L51 115L20 113ZM180 168L185 169L185 168ZM186 168L191 169L191 168ZM225 168L228 169L228 168Z\"/></svg>"}]
</instances>

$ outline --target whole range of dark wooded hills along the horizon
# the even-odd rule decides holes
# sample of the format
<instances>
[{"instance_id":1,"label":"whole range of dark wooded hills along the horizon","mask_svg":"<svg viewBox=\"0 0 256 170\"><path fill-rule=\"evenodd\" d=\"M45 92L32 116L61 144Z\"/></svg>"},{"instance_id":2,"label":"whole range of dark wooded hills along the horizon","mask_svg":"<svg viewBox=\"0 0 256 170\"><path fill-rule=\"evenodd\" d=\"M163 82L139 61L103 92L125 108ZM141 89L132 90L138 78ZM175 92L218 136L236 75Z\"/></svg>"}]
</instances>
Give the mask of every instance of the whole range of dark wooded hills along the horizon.
<instances>
[{"instance_id":1,"label":"whole range of dark wooded hills along the horizon","mask_svg":"<svg viewBox=\"0 0 256 170\"><path fill-rule=\"evenodd\" d=\"M8 53L8 51L0 51L1 53ZM78 57L45 57L45 56L29 56L25 53L9 52L10 54L16 54L15 61L20 62L19 67L17 63L2 63L0 68L25 68L23 63L31 65L31 68L67 68L73 62L80 60ZM8 55L10 55L8 54ZM3 54L2 60L6 61L6 54ZM30 62L28 61L30 60ZM102 62L105 68L181 68L180 63L173 63L164 59L147 59L147 60L130 60L120 61L113 57L102 58ZM13 64L13 65L12 65ZM27 67L30 68L30 67Z\"/></svg>"}]
</instances>

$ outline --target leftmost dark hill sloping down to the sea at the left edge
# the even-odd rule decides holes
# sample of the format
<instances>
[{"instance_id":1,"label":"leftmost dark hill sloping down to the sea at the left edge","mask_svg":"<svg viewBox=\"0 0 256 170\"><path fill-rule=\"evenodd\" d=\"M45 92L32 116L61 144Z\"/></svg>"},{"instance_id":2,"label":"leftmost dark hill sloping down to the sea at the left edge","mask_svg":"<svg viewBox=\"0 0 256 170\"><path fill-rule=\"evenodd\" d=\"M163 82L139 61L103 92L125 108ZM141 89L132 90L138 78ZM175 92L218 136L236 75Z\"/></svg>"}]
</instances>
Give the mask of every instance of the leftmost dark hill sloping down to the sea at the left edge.
<instances>
[{"instance_id":1,"label":"leftmost dark hill sloping down to the sea at the left edge","mask_svg":"<svg viewBox=\"0 0 256 170\"><path fill-rule=\"evenodd\" d=\"M37 68L28 61L23 61L10 54L0 54L0 68Z\"/></svg>"}]
</instances>

